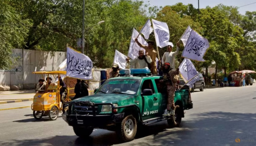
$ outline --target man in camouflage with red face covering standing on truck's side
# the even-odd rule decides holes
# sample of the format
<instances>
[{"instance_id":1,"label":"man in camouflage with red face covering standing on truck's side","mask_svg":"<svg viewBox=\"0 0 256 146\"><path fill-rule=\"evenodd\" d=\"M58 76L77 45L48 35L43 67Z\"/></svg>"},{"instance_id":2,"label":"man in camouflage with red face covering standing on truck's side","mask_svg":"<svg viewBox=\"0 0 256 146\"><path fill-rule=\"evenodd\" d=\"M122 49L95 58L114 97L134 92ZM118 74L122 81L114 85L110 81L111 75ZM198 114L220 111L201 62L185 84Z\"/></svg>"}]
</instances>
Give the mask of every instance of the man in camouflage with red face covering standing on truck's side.
<instances>
[{"instance_id":1,"label":"man in camouflage with red face covering standing on truck's side","mask_svg":"<svg viewBox=\"0 0 256 146\"><path fill-rule=\"evenodd\" d=\"M174 93L176 88L176 82L178 81L179 68L176 70L170 68L170 64L168 62L165 63L163 69L163 80L161 82L165 83L167 86L167 95L168 95L168 103L167 109L163 113L163 116L174 115Z\"/></svg>"}]
</instances>

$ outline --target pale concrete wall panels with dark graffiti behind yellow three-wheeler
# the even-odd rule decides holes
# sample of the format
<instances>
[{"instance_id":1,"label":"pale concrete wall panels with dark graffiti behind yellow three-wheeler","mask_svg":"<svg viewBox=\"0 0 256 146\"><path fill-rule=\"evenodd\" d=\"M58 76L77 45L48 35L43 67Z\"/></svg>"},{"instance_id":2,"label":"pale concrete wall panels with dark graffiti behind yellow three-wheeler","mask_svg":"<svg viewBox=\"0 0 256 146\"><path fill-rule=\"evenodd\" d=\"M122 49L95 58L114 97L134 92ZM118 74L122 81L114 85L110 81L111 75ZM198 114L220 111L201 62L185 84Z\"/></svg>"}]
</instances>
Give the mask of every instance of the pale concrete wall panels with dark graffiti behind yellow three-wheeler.
<instances>
[{"instance_id":1,"label":"pale concrete wall panels with dark graffiti behind yellow three-wheeler","mask_svg":"<svg viewBox=\"0 0 256 146\"><path fill-rule=\"evenodd\" d=\"M22 56L23 55L23 56ZM45 70L56 70L66 58L66 52L54 52L39 50L13 49L12 58L17 62L11 70L0 70L0 91L34 89L38 84L41 74L35 75L32 72L45 66Z\"/></svg>"}]
</instances>

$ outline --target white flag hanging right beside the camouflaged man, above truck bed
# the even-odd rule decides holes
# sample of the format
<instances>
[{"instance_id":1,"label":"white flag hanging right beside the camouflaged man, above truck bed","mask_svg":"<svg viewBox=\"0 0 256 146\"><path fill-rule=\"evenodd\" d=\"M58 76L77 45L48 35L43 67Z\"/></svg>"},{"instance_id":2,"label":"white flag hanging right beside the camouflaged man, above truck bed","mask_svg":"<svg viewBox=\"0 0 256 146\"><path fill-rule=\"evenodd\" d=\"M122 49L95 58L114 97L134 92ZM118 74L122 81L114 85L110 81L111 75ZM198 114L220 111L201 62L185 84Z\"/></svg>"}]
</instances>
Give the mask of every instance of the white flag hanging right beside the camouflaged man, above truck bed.
<instances>
[{"instance_id":1,"label":"white flag hanging right beside the camouflaged man, above truck bed","mask_svg":"<svg viewBox=\"0 0 256 146\"><path fill-rule=\"evenodd\" d=\"M191 78L195 77L198 74L191 60L187 58L182 61L179 69L185 82L188 82L189 80L191 80Z\"/></svg>"}]
</instances>

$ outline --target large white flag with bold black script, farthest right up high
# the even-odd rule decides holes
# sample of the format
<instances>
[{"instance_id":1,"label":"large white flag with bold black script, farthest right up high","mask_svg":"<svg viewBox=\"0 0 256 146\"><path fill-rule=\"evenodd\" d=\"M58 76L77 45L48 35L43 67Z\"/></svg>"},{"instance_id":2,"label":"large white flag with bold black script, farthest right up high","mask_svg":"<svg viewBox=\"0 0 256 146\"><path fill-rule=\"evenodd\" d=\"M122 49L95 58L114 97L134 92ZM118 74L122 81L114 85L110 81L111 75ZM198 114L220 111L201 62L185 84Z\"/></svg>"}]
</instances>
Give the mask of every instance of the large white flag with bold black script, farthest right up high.
<instances>
[{"instance_id":1,"label":"large white flag with bold black script, farthest right up high","mask_svg":"<svg viewBox=\"0 0 256 146\"><path fill-rule=\"evenodd\" d=\"M196 61L204 61L203 56L209 46L209 42L206 38L192 30L188 42L182 52L182 57Z\"/></svg>"}]
</instances>

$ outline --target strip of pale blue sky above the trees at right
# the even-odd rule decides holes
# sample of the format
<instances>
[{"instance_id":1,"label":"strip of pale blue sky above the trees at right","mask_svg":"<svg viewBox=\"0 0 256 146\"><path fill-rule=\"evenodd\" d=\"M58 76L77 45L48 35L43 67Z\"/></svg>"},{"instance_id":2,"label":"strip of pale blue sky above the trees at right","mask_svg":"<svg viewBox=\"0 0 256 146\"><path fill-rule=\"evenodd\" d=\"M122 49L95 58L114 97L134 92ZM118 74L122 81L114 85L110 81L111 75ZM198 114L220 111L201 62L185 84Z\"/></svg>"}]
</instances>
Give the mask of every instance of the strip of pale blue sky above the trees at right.
<instances>
[{"instance_id":1,"label":"strip of pale blue sky above the trees at right","mask_svg":"<svg viewBox=\"0 0 256 146\"><path fill-rule=\"evenodd\" d=\"M183 3L185 5L187 4L193 4L195 8L198 8L198 0L143 0L146 3L148 3L151 6L157 5L157 6L165 6L165 5L174 5L176 3ZM218 4L223 5L232 5L236 7L240 7L238 10L240 14L244 15L246 11L256 11L256 0L199 0L199 8L206 8L206 6L214 7ZM255 3L255 4L251 4ZM247 5L251 4L251 5ZM247 5L244 7L241 7L243 5Z\"/></svg>"}]
</instances>

